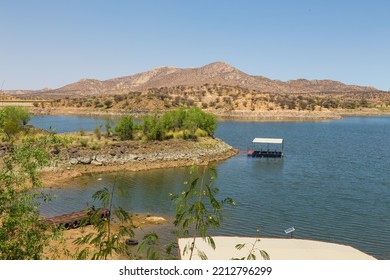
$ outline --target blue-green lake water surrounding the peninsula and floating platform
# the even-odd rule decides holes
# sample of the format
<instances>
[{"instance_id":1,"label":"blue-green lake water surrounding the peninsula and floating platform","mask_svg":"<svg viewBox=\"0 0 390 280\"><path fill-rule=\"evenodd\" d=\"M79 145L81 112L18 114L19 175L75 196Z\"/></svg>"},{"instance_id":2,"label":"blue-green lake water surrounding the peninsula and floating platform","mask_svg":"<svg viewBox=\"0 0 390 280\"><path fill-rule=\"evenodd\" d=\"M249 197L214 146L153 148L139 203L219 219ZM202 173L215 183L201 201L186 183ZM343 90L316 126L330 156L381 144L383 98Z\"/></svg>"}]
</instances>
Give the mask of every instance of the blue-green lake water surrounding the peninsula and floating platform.
<instances>
[{"instance_id":1,"label":"blue-green lake water surrounding the peninsula and floating platform","mask_svg":"<svg viewBox=\"0 0 390 280\"><path fill-rule=\"evenodd\" d=\"M58 132L92 130L98 118L34 117L31 124ZM220 122L217 137L246 151L255 137L284 138L283 159L253 159L245 152L215 165L221 197L232 197L224 235L256 234L351 245L390 259L390 117L325 122ZM59 198L43 213L77 211L114 177L124 188L116 203L129 211L172 215L168 193L188 180L187 168L94 174L53 189Z\"/></svg>"}]
</instances>

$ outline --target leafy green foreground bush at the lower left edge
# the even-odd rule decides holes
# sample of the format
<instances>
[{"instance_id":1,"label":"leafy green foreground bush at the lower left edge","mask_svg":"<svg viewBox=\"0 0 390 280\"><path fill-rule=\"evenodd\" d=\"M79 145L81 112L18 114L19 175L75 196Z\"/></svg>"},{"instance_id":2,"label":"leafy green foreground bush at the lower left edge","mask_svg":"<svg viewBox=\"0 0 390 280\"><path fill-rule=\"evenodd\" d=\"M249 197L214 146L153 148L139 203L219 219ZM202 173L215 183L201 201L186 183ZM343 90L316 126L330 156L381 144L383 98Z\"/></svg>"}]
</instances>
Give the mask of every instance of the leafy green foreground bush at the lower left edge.
<instances>
[{"instance_id":1,"label":"leafy green foreground bush at the lower left edge","mask_svg":"<svg viewBox=\"0 0 390 280\"><path fill-rule=\"evenodd\" d=\"M29 138L12 145L0 163L0 259L41 259L53 232L40 218L38 207L49 199L38 170L49 162L41 143Z\"/></svg>"}]
</instances>

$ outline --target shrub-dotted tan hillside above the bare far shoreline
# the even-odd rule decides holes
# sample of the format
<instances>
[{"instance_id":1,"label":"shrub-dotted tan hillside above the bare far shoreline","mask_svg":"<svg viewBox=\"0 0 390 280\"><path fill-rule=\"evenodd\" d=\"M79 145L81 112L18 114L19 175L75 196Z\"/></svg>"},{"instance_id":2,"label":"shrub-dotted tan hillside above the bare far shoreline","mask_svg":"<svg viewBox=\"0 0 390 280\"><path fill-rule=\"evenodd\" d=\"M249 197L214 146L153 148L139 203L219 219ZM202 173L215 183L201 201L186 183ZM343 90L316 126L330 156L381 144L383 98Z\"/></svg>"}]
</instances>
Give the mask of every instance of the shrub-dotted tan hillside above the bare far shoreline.
<instances>
[{"instance_id":1,"label":"shrub-dotted tan hillside above the bare far shoreline","mask_svg":"<svg viewBox=\"0 0 390 280\"><path fill-rule=\"evenodd\" d=\"M57 99L46 106L76 108L93 106L94 110L115 110L131 114L150 114L156 110L199 107L216 115L234 111L390 110L390 95L388 92L380 91L284 94L239 86L205 84L203 86L151 88L142 92L129 92L111 97Z\"/></svg>"}]
</instances>

